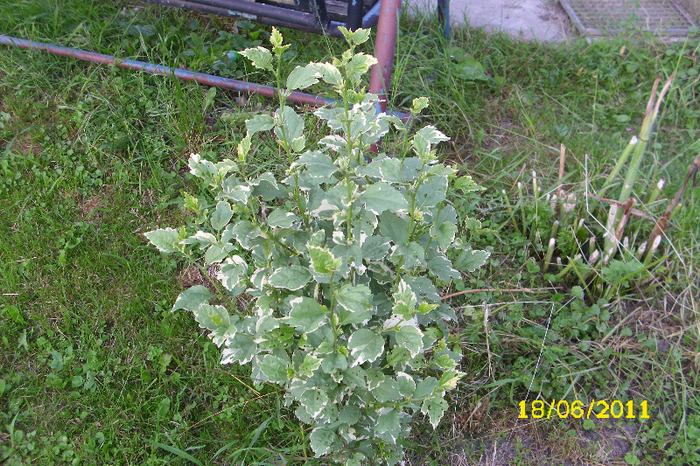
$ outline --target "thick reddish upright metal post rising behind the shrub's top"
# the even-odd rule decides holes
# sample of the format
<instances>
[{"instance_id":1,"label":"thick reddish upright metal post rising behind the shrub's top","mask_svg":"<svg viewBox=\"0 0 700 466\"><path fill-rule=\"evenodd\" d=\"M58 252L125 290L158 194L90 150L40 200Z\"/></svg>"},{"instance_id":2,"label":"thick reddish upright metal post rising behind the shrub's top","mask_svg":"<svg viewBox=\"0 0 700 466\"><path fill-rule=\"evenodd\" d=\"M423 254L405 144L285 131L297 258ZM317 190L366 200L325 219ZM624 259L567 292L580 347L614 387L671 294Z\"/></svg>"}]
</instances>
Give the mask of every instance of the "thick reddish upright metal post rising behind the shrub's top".
<instances>
[{"instance_id":1,"label":"thick reddish upright metal post rising behind the shrub's top","mask_svg":"<svg viewBox=\"0 0 700 466\"><path fill-rule=\"evenodd\" d=\"M400 14L401 0L381 0L377 40L374 46L377 64L372 67L369 91L379 96L379 107L383 112L386 112L387 97L391 86Z\"/></svg>"}]
</instances>

